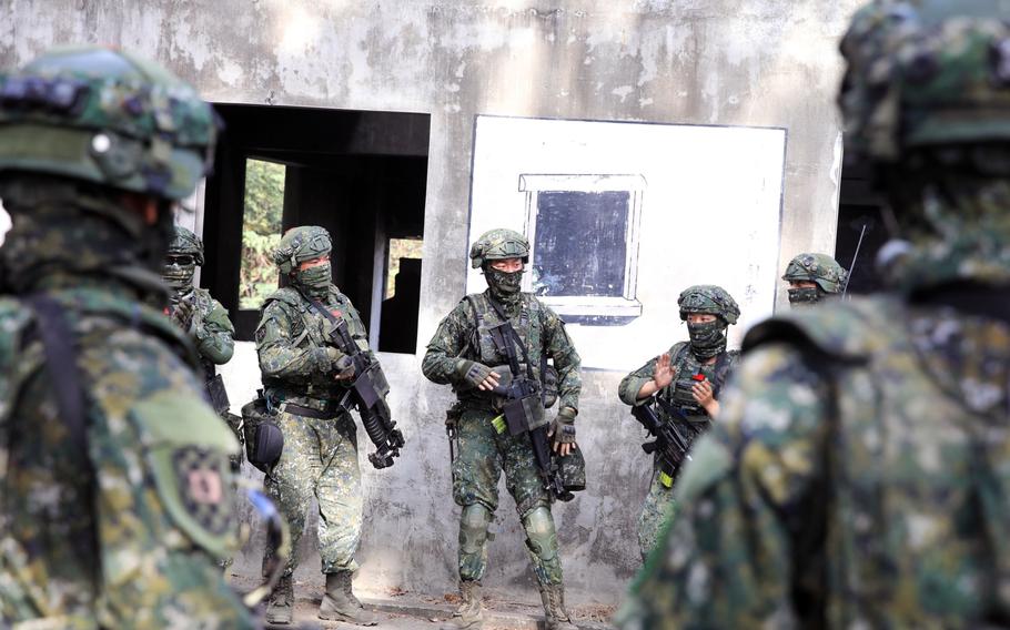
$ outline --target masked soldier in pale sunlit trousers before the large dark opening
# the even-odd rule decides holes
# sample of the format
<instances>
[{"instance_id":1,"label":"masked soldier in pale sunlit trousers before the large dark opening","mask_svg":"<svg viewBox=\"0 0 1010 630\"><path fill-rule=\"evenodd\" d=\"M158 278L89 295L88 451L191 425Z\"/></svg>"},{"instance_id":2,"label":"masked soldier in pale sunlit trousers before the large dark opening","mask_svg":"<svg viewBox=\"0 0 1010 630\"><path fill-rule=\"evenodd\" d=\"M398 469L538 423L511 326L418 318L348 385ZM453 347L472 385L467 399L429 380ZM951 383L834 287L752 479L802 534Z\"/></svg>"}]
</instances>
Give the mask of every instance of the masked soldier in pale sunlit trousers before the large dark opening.
<instances>
[{"instance_id":1,"label":"masked soldier in pale sunlit trousers before the large dark opening","mask_svg":"<svg viewBox=\"0 0 1010 630\"><path fill-rule=\"evenodd\" d=\"M256 327L256 352L267 405L284 436L284 450L267 475L266 487L291 527L296 549L305 529L305 509L319 501L319 540L326 595L321 619L374 626L351 590L357 570L354 555L361 540L363 515L357 428L339 399L354 376L347 355L329 341L332 317L347 323L358 347L372 356L368 333L351 299L333 285L332 245L322 227L289 230L273 252L273 261L290 285L263 305ZM374 356L372 356L374 360ZM270 550L267 550L270 553ZM294 607L292 553L266 611L271 623L291 623Z\"/></svg>"}]
</instances>

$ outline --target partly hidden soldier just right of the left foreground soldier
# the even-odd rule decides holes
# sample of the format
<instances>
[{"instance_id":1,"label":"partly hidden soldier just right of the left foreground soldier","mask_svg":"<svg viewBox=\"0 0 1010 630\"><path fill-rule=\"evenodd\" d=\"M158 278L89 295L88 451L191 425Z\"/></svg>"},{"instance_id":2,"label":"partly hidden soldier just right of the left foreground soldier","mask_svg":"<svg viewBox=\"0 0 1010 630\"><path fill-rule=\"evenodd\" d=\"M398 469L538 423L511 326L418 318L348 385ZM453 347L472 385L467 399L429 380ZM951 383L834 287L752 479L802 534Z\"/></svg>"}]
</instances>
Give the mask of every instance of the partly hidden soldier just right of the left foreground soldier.
<instances>
[{"instance_id":1,"label":"partly hidden soldier just right of the left foreground soldier","mask_svg":"<svg viewBox=\"0 0 1010 630\"><path fill-rule=\"evenodd\" d=\"M241 443L241 418L229 413L228 392L216 368L231 360L235 352L235 327L228 318L224 306L205 288L193 285L196 267L202 264L203 242L191 231L176 225L161 271L161 278L172 292L165 311L172 323L196 345L208 399ZM238 470L241 461L241 455L233 458L232 468Z\"/></svg>"}]
</instances>

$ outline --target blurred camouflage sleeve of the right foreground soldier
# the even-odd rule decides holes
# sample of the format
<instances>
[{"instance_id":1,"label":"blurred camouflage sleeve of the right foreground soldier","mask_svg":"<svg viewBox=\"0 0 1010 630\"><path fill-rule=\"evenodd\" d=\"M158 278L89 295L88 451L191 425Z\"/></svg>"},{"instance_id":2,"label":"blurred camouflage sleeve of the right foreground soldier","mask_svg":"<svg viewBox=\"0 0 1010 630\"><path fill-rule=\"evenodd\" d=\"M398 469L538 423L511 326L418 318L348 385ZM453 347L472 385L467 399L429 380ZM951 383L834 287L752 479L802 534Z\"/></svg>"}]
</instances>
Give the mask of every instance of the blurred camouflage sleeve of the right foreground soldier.
<instances>
[{"instance_id":1,"label":"blurred camouflage sleeve of the right foreground soldier","mask_svg":"<svg viewBox=\"0 0 1010 630\"><path fill-rule=\"evenodd\" d=\"M795 536L818 519L828 388L784 346L749 354L724 416L675 487L679 509L618 610L618 628L784 628L805 580ZM810 570L808 568L808 570ZM812 575L812 573L811 573Z\"/></svg>"}]
</instances>

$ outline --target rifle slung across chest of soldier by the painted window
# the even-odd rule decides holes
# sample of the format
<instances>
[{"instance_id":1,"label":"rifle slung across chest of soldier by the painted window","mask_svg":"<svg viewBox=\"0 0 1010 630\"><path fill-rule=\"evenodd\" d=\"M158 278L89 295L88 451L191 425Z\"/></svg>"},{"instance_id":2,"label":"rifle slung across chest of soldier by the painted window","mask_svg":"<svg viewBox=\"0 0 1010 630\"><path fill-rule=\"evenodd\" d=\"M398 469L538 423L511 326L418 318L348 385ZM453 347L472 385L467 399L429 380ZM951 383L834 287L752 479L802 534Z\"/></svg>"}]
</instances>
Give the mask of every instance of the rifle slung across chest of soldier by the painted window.
<instances>
[{"instance_id":1,"label":"rifle slung across chest of soldier by the painted window","mask_svg":"<svg viewBox=\"0 0 1010 630\"><path fill-rule=\"evenodd\" d=\"M541 395L539 382L533 378L526 345L512 327L502 307L493 299L488 299L488 302L502 321L497 326L489 327L488 332L495 346L505 353L508 358L508 368L512 370L512 380L494 389L495 394L507 400L505 403L505 423L508 426L508 435L517 436L524 433L529 435L533 458L547 492L553 498L570 501L575 495L565 489L560 469L552 457L551 440L547 438L548 423L544 417L544 398ZM525 376L519 370L519 358L515 352L516 344L523 350L523 359L526 363Z\"/></svg>"}]
</instances>

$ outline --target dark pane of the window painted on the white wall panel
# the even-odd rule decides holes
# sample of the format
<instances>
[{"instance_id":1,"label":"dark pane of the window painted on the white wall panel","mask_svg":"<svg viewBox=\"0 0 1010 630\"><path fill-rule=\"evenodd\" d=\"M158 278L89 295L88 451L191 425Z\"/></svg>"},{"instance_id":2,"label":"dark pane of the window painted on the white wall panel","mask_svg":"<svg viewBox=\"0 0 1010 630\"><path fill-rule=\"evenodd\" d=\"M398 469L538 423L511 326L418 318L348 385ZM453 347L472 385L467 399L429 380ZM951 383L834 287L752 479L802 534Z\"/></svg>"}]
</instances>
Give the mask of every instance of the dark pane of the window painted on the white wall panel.
<instances>
[{"instance_id":1,"label":"dark pane of the window painted on the white wall panel","mask_svg":"<svg viewBox=\"0 0 1010 630\"><path fill-rule=\"evenodd\" d=\"M628 197L627 191L537 195L538 295L624 295Z\"/></svg>"}]
</instances>

